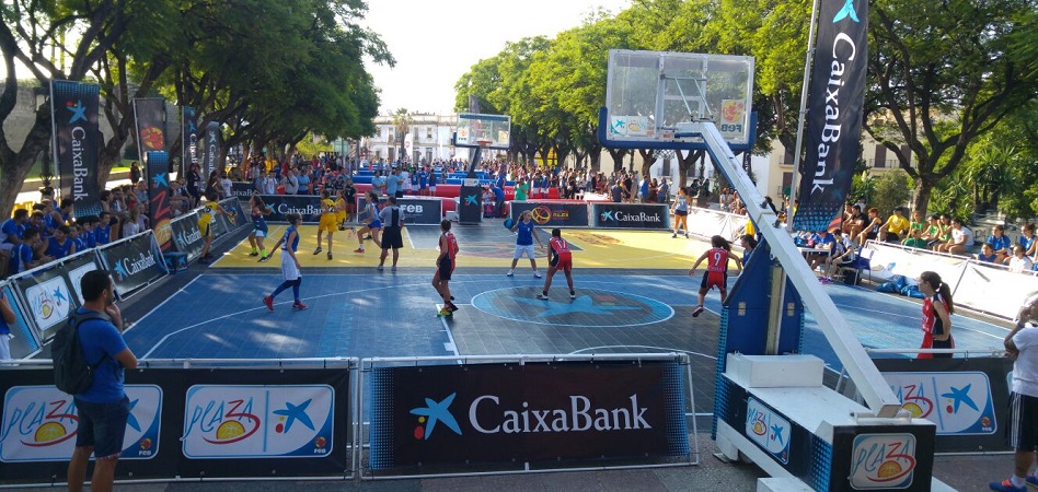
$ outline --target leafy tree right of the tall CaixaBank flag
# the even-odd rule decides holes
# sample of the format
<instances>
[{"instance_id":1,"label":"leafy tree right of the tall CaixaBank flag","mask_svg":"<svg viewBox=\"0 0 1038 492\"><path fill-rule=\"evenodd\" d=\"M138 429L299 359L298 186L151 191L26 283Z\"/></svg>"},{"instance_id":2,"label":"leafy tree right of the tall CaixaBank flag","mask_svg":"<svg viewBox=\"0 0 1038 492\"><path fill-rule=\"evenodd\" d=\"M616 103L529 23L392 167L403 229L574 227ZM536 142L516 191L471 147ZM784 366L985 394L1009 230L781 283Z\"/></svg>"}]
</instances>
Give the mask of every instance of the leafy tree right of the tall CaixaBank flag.
<instances>
[{"instance_id":1,"label":"leafy tree right of the tall CaixaBank flag","mask_svg":"<svg viewBox=\"0 0 1038 492\"><path fill-rule=\"evenodd\" d=\"M914 208L925 212L970 142L1038 94L1015 43L1020 20L1034 19L1034 3L876 0L869 7L864 128L914 179Z\"/></svg>"}]
</instances>

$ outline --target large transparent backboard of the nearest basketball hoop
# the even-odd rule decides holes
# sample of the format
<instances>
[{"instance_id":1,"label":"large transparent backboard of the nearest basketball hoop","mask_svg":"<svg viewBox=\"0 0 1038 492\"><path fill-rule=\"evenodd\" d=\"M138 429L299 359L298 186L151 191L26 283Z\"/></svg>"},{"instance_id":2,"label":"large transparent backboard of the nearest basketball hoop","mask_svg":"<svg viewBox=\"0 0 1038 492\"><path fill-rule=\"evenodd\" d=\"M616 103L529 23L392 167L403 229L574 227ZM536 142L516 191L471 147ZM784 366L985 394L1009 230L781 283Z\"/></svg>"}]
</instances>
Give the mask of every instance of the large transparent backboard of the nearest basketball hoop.
<instances>
[{"instance_id":1,"label":"large transparent backboard of the nearest basketball hoop","mask_svg":"<svg viewBox=\"0 0 1038 492\"><path fill-rule=\"evenodd\" d=\"M753 58L609 51L607 143L695 142L687 124L713 121L730 145L750 144Z\"/></svg>"}]
</instances>

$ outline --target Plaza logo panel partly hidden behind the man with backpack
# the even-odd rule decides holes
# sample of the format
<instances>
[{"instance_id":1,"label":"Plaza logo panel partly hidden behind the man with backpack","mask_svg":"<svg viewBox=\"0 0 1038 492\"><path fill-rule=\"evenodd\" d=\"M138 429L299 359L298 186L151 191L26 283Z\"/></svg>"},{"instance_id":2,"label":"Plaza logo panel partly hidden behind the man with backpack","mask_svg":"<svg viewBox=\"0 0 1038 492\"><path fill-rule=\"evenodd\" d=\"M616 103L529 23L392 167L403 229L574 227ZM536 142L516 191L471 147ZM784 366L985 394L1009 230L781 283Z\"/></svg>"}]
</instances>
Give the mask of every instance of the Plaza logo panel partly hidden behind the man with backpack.
<instances>
[{"instance_id":1,"label":"Plaza logo panel partly hidden behind the man with backpack","mask_svg":"<svg viewBox=\"0 0 1038 492\"><path fill-rule=\"evenodd\" d=\"M150 459L159 452L162 389L127 385L130 413L119 459ZM79 413L72 397L54 386L14 386L3 397L0 461L68 461Z\"/></svg>"}]
</instances>

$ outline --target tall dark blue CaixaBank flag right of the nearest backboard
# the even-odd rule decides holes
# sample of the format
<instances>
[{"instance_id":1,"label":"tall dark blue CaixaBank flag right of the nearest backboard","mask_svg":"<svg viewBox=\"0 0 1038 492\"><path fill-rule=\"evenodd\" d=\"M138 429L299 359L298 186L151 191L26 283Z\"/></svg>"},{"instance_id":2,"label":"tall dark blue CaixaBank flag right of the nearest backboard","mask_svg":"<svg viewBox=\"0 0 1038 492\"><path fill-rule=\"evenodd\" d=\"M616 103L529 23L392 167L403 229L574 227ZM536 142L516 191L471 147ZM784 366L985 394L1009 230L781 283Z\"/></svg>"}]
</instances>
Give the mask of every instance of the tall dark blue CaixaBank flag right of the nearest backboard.
<instances>
[{"instance_id":1,"label":"tall dark blue CaixaBank flag right of the nearest backboard","mask_svg":"<svg viewBox=\"0 0 1038 492\"><path fill-rule=\"evenodd\" d=\"M821 0L795 230L828 229L851 192L861 148L867 36L867 0Z\"/></svg>"}]
</instances>

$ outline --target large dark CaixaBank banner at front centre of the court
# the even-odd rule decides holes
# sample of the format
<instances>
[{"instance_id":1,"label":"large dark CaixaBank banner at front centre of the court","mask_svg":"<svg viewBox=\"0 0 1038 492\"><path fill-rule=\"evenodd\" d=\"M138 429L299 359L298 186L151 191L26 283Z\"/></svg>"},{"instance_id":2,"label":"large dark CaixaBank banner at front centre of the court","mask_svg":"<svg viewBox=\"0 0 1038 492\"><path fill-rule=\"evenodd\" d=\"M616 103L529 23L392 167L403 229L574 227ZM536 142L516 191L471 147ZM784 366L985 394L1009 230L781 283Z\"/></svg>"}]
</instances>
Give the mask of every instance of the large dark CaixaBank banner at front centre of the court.
<instances>
[{"instance_id":1,"label":"large dark CaixaBank banner at front centre of the court","mask_svg":"<svg viewBox=\"0 0 1038 492\"><path fill-rule=\"evenodd\" d=\"M690 453L676 361L379 367L374 471Z\"/></svg>"}]
</instances>

